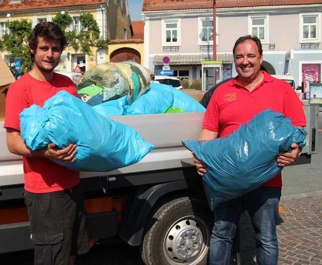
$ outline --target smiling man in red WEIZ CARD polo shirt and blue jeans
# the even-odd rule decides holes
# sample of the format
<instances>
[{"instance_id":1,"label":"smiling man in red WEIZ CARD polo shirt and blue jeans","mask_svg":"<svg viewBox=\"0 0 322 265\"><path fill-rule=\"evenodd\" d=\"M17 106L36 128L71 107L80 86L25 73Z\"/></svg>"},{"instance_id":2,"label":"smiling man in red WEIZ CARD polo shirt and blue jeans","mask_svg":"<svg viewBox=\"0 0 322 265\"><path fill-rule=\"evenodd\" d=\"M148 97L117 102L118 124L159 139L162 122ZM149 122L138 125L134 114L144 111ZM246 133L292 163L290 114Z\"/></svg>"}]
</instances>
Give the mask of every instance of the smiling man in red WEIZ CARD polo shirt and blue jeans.
<instances>
[{"instance_id":1,"label":"smiling man in red WEIZ CARD polo shirt and blue jeans","mask_svg":"<svg viewBox=\"0 0 322 265\"><path fill-rule=\"evenodd\" d=\"M298 127L306 125L302 103L292 87L260 71L263 61L261 41L250 35L238 38L233 47L237 76L213 93L207 107L203 128L198 140L225 137L241 123L251 120L257 113L272 109L290 117ZM234 95L227 100L225 95ZM281 167L291 165L299 156L298 145L292 144L292 152L282 152L277 157ZM194 156L198 174L206 173L206 165ZM214 209L214 226L210 239L210 265L228 265L232 240L239 218L245 207L252 219L256 239L257 264L277 265L278 242L276 225L282 178L278 174L262 187Z\"/></svg>"}]
</instances>

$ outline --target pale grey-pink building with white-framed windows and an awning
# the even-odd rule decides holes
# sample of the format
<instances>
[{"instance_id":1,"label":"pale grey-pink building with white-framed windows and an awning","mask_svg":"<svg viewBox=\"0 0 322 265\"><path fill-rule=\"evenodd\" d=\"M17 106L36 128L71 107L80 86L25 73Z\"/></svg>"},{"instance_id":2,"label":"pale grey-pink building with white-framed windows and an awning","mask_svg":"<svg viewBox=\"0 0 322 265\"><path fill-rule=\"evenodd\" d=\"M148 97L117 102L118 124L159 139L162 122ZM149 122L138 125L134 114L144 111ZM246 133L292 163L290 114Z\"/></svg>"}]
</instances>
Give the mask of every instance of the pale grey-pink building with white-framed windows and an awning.
<instances>
[{"instance_id":1,"label":"pale grey-pink building with white-framed windows and an awning","mask_svg":"<svg viewBox=\"0 0 322 265\"><path fill-rule=\"evenodd\" d=\"M199 79L201 61L215 53L222 78L234 77L234 42L250 34L262 41L262 69L269 74L292 75L305 92L321 81L322 1L144 0L142 12L144 65L155 74L167 56L175 76Z\"/></svg>"}]
</instances>

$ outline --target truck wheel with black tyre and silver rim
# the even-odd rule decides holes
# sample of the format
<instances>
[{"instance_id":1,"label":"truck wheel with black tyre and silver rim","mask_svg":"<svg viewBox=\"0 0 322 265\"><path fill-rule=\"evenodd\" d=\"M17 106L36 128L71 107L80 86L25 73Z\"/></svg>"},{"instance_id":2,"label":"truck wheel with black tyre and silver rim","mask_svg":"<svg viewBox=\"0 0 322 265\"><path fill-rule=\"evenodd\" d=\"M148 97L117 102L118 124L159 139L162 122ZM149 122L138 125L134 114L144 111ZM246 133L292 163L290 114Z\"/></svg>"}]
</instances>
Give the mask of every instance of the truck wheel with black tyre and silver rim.
<instances>
[{"instance_id":1,"label":"truck wheel with black tyre and silver rim","mask_svg":"<svg viewBox=\"0 0 322 265\"><path fill-rule=\"evenodd\" d=\"M146 265L207 264L212 213L206 202L180 197L149 219L140 252Z\"/></svg>"}]
</instances>

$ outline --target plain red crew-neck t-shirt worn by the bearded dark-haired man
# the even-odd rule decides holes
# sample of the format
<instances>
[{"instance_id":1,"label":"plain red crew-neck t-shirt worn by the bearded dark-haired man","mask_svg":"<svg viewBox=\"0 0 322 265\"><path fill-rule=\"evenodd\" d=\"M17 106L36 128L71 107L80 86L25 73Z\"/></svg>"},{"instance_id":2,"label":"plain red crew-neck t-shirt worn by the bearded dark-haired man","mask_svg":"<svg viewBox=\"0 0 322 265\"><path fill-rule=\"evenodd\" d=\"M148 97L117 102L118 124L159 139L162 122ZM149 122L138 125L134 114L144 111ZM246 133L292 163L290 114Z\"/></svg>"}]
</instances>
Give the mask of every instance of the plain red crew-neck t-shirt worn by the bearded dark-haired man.
<instances>
[{"instance_id":1,"label":"plain red crew-neck t-shirt worn by the bearded dark-haired man","mask_svg":"<svg viewBox=\"0 0 322 265\"><path fill-rule=\"evenodd\" d=\"M5 128L20 130L19 114L33 104L43 107L44 102L57 92L65 90L77 96L72 81L54 73L52 81L39 81L29 74L14 82L6 96ZM79 172L69 170L47 158L23 157L25 189L45 193L67 189L79 182Z\"/></svg>"}]
</instances>

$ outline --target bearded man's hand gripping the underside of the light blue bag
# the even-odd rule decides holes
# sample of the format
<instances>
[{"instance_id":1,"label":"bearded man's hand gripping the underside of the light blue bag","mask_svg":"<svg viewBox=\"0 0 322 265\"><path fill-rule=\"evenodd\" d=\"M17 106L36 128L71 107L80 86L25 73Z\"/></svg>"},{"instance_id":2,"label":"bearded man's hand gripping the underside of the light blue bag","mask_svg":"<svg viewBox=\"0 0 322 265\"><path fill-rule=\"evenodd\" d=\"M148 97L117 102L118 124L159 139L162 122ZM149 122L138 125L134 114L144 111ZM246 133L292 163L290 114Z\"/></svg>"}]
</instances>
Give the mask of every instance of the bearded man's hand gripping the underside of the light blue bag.
<instances>
[{"instance_id":1,"label":"bearded man's hand gripping the underside of the light blue bag","mask_svg":"<svg viewBox=\"0 0 322 265\"><path fill-rule=\"evenodd\" d=\"M54 143L50 143L47 146L45 156L65 163L72 163L76 160L76 158L74 157L76 153L77 150L75 144L70 144L64 149L58 149L56 148L56 145Z\"/></svg>"}]
</instances>

